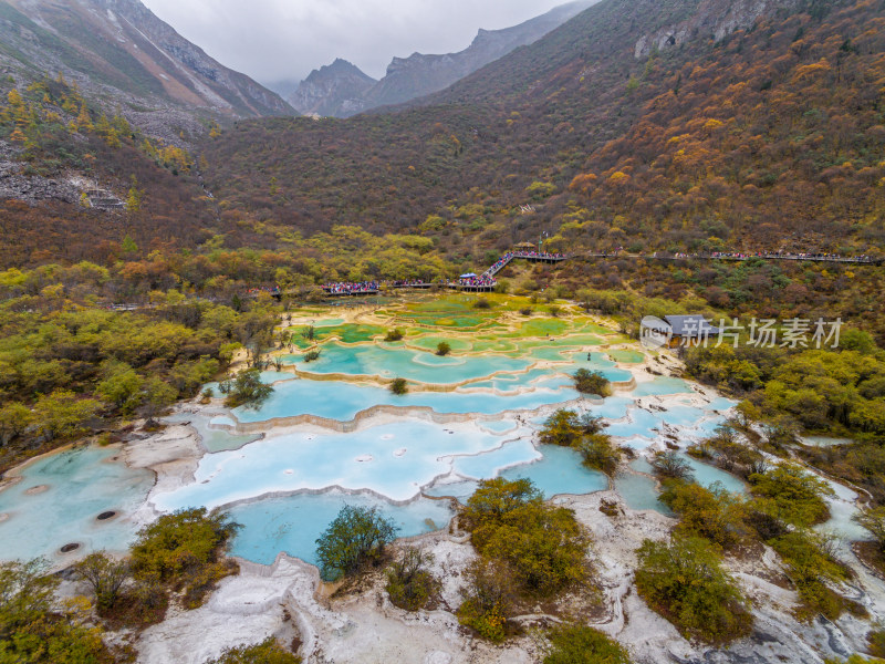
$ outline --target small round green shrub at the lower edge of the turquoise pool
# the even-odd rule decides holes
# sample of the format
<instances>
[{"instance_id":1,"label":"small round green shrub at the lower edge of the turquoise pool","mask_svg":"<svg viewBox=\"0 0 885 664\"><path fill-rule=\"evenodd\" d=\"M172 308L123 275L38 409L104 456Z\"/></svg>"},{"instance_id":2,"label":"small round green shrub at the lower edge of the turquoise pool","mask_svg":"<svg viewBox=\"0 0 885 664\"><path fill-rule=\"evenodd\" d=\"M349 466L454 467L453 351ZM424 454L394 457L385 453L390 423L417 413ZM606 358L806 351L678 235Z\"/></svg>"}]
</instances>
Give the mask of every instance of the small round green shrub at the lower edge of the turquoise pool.
<instances>
[{"instance_id":1,"label":"small round green shrub at the lower edge of the turquoise pool","mask_svg":"<svg viewBox=\"0 0 885 664\"><path fill-rule=\"evenodd\" d=\"M377 508L345 505L316 540L316 559L323 579L350 575L367 562L377 561L399 528Z\"/></svg>"}]
</instances>

